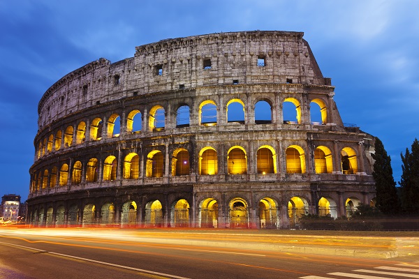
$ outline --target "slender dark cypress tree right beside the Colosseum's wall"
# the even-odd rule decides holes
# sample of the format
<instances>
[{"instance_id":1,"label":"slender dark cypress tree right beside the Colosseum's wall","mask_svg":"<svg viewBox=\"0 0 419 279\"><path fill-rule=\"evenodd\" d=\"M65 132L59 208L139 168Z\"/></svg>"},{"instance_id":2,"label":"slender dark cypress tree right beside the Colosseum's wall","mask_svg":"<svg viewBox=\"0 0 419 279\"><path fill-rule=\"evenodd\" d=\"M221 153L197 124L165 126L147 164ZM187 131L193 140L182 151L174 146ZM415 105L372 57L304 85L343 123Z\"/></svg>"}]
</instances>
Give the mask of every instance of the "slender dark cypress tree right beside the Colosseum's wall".
<instances>
[{"instance_id":1,"label":"slender dark cypress tree right beside the Colosseum's wall","mask_svg":"<svg viewBox=\"0 0 419 279\"><path fill-rule=\"evenodd\" d=\"M399 211L399 197L395 179L392 176L391 158L384 149L383 142L375 138L374 177L376 186L376 207L384 214L394 214Z\"/></svg>"}]
</instances>

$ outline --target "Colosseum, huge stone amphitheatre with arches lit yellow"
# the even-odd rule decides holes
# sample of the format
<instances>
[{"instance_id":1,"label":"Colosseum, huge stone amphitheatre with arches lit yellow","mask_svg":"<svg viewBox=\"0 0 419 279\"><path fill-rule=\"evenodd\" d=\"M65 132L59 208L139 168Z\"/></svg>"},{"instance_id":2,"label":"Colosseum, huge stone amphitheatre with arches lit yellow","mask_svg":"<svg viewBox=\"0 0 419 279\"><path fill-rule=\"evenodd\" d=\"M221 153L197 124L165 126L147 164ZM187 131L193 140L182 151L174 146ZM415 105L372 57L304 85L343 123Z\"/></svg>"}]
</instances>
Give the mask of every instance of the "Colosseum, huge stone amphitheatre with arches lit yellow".
<instances>
[{"instance_id":1,"label":"Colosseum, huge stone amphitheatre with arches lit yellow","mask_svg":"<svg viewBox=\"0 0 419 279\"><path fill-rule=\"evenodd\" d=\"M302 32L161 40L38 104L34 225L293 228L374 203L374 137L341 120ZM348 97L349 98L349 97Z\"/></svg>"}]
</instances>

